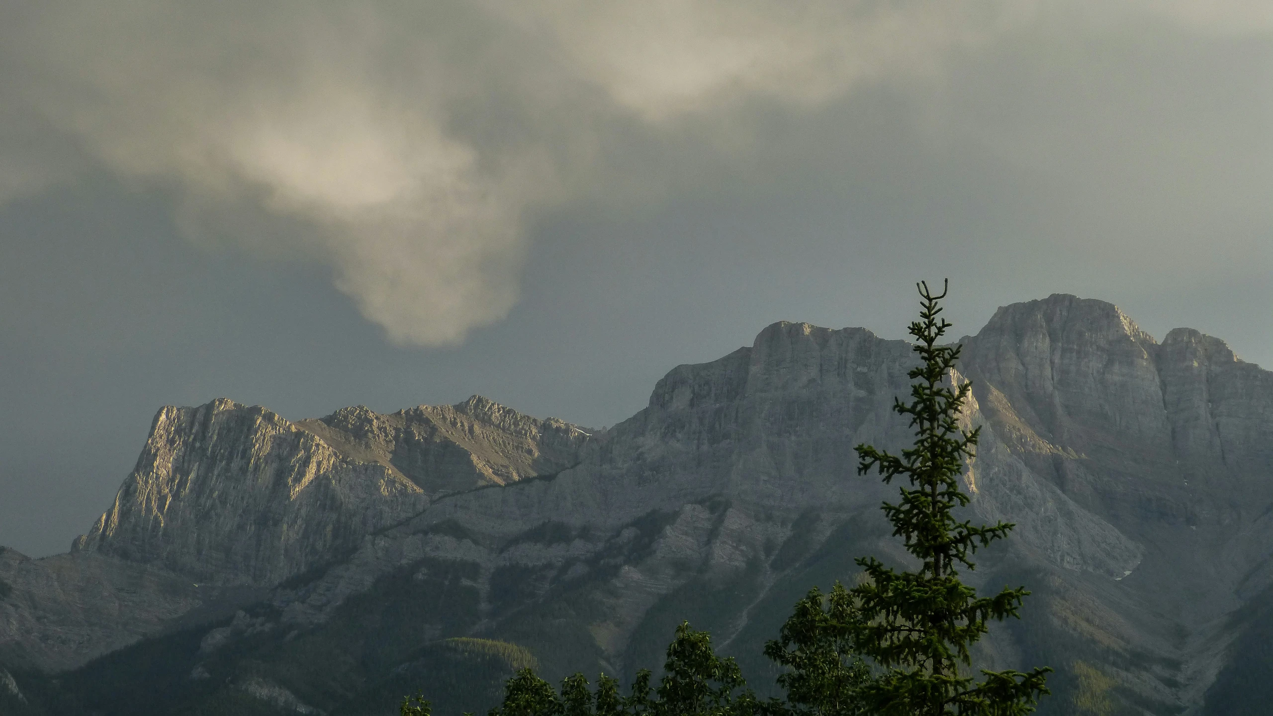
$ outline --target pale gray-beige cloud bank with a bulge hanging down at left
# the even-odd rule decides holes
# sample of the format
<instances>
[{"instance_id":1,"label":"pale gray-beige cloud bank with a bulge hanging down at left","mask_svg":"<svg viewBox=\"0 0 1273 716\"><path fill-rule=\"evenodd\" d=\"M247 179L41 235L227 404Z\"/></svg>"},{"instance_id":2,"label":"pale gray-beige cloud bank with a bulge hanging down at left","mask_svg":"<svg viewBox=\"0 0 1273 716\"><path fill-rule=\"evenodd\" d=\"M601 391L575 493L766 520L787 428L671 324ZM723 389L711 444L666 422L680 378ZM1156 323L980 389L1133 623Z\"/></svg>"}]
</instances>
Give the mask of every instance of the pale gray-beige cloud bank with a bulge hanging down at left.
<instances>
[{"instance_id":1,"label":"pale gray-beige cloud bank with a bulge hanging down at left","mask_svg":"<svg viewBox=\"0 0 1273 716\"><path fill-rule=\"evenodd\" d=\"M325 262L418 344L508 315L536 217L666 190L629 144L759 157L757 102L816 111L881 84L939 113L953 62L1049 23L1273 23L1265 3L1183 0L84 1L5 20L0 199L92 166L165 186L187 234ZM970 131L1009 162L1074 158L1046 122Z\"/></svg>"}]
</instances>

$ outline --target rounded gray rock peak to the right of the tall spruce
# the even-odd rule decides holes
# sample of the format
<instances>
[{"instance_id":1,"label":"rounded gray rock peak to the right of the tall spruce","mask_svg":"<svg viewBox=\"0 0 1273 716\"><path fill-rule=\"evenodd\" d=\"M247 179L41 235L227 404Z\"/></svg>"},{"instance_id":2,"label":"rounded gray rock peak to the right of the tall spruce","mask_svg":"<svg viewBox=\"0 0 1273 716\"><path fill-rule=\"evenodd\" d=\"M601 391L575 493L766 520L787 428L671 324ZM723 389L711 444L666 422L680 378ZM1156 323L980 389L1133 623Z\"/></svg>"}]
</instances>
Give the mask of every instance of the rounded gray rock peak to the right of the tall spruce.
<instances>
[{"instance_id":1,"label":"rounded gray rock peak to the right of the tall spruce","mask_svg":"<svg viewBox=\"0 0 1273 716\"><path fill-rule=\"evenodd\" d=\"M1273 497L1273 373L1190 329L1158 344L1072 296L1001 308L965 339L962 369L1034 474L1151 553L1166 547L1161 578L1181 562L1230 587L1240 577L1228 568L1246 548L1230 540Z\"/></svg>"}]
</instances>

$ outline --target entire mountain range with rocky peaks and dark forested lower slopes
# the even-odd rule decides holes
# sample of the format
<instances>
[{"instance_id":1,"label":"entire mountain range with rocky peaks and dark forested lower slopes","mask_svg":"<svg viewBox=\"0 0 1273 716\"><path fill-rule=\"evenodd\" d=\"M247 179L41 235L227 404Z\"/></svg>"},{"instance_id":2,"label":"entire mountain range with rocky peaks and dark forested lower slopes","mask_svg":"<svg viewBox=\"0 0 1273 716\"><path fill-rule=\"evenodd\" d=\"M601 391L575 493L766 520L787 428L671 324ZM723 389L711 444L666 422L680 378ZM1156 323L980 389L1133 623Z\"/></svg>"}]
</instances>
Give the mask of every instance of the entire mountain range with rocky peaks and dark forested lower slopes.
<instances>
[{"instance_id":1,"label":"entire mountain range with rocky peaks and dark forested lower slopes","mask_svg":"<svg viewBox=\"0 0 1273 716\"><path fill-rule=\"evenodd\" d=\"M1017 524L965 577L1034 592L974 665L1055 668L1040 713L1263 713L1273 373L1068 296L961 343L970 517ZM509 655L626 682L682 619L771 685L759 646L808 586L852 585L858 555L908 567L853 446L910 443L891 406L914 361L775 324L608 431L482 399L164 408L75 549L0 553L0 713L392 713L418 688L484 712Z\"/></svg>"}]
</instances>

